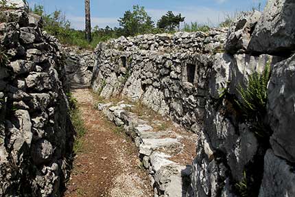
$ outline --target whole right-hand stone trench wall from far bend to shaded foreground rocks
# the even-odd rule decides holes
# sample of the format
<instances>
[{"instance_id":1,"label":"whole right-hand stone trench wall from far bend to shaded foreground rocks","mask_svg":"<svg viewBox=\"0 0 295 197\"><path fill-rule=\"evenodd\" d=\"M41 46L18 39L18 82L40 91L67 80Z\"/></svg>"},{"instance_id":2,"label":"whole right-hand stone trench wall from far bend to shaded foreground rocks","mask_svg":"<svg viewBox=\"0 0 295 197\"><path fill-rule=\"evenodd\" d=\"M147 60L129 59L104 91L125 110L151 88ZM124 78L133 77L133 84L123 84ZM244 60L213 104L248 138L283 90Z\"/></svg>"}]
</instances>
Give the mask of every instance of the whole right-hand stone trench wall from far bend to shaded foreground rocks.
<instances>
[{"instance_id":1,"label":"whole right-hand stone trench wall from far bend to shaded foreground rocks","mask_svg":"<svg viewBox=\"0 0 295 197\"><path fill-rule=\"evenodd\" d=\"M100 43L91 86L102 97L140 100L198 133L187 196L295 196L294 9L292 0L270 0L228 30ZM267 62L268 135L259 137L235 100L237 86Z\"/></svg>"}]
</instances>

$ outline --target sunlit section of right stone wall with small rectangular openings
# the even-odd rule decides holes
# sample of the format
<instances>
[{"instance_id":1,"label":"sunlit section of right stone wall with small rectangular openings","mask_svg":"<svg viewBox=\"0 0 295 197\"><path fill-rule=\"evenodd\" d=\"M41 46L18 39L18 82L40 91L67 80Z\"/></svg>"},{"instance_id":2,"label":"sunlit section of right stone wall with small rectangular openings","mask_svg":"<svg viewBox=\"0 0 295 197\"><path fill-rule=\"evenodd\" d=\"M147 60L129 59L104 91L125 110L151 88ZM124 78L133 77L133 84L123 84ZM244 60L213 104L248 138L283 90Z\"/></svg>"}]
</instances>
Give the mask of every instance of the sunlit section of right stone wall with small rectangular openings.
<instances>
[{"instance_id":1,"label":"sunlit section of right stone wall with small rectangular openings","mask_svg":"<svg viewBox=\"0 0 295 197\"><path fill-rule=\"evenodd\" d=\"M209 51L222 49L225 37L225 30L212 30L121 37L100 43L92 87L102 97L121 94L141 100L196 131L204 117L207 73L212 64Z\"/></svg>"}]
</instances>

